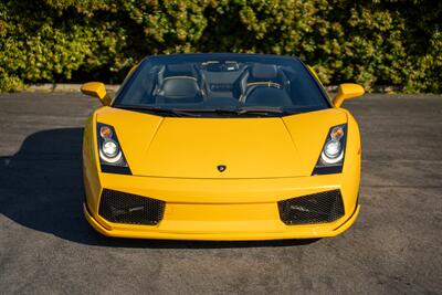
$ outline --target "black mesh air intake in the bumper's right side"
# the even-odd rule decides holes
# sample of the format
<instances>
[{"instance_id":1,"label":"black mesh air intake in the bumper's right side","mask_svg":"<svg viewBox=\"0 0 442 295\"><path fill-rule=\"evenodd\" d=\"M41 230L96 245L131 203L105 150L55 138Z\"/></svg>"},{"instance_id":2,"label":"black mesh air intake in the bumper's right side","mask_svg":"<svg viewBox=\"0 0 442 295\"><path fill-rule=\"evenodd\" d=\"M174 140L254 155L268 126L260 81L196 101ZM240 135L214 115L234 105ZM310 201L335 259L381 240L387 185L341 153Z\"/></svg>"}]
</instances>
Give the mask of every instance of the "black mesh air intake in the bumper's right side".
<instances>
[{"instance_id":1,"label":"black mesh air intake in the bumper's right side","mask_svg":"<svg viewBox=\"0 0 442 295\"><path fill-rule=\"evenodd\" d=\"M340 190L302 196L277 202L280 218L285 224L332 222L344 215Z\"/></svg>"}]
</instances>

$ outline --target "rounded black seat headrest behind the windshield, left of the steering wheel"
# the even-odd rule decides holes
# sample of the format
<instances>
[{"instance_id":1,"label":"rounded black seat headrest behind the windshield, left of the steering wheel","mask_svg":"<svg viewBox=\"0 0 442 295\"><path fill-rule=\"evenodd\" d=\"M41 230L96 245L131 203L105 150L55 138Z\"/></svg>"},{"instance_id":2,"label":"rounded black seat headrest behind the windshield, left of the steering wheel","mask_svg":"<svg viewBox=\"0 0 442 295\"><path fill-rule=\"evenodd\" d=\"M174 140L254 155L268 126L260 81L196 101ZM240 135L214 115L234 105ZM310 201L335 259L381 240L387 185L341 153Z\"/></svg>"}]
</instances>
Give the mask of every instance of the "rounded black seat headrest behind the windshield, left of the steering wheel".
<instances>
[{"instance_id":1,"label":"rounded black seat headrest behind the windshield, left of the steering wheel","mask_svg":"<svg viewBox=\"0 0 442 295\"><path fill-rule=\"evenodd\" d=\"M194 77L170 77L162 83L159 95L166 97L194 97L199 93Z\"/></svg>"}]
</instances>

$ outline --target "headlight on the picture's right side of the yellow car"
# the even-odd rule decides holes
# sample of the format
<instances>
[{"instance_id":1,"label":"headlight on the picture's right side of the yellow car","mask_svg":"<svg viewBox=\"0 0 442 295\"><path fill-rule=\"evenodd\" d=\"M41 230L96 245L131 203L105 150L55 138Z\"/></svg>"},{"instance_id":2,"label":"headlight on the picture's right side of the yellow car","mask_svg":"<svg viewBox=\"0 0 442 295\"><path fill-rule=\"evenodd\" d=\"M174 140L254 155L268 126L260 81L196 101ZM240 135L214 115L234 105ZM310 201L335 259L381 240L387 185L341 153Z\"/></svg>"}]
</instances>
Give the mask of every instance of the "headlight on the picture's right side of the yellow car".
<instances>
[{"instance_id":1,"label":"headlight on the picture's right side of the yellow car","mask_svg":"<svg viewBox=\"0 0 442 295\"><path fill-rule=\"evenodd\" d=\"M330 128L312 175L340 173L343 171L346 139L347 124Z\"/></svg>"}]
</instances>

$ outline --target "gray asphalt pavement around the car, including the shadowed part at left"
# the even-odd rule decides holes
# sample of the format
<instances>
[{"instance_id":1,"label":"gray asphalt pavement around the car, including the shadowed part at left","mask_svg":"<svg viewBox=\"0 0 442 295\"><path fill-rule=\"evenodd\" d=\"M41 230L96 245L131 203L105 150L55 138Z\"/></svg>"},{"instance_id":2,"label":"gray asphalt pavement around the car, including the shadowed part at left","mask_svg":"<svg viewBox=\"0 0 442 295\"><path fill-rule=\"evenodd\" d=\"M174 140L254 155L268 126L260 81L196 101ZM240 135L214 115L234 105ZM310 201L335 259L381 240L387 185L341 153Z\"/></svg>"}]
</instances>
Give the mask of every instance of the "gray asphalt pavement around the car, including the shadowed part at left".
<instances>
[{"instance_id":1,"label":"gray asphalt pavement around the car, including the shadowed part at left","mask_svg":"<svg viewBox=\"0 0 442 295\"><path fill-rule=\"evenodd\" d=\"M0 294L442 293L442 96L346 103L362 137L361 213L316 241L115 240L82 217L75 93L0 95Z\"/></svg>"}]
</instances>

